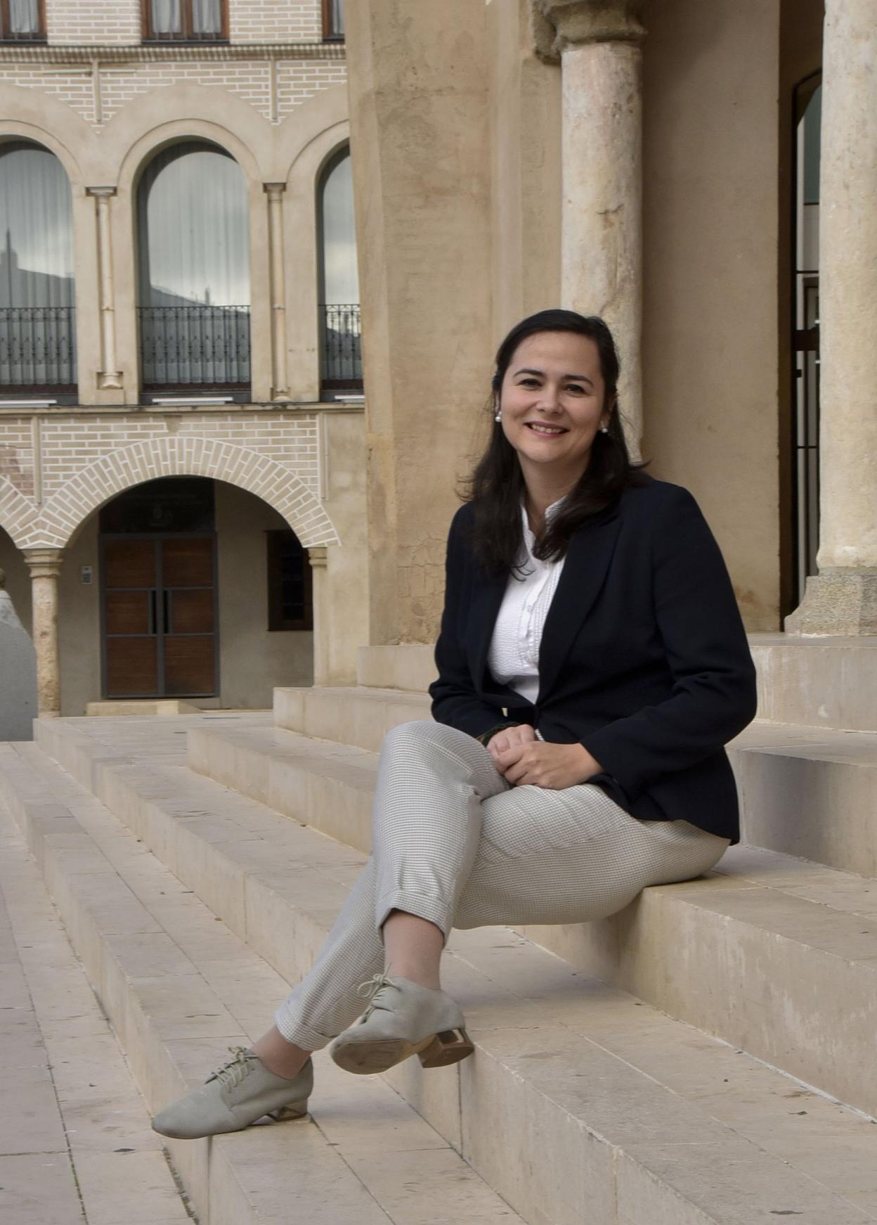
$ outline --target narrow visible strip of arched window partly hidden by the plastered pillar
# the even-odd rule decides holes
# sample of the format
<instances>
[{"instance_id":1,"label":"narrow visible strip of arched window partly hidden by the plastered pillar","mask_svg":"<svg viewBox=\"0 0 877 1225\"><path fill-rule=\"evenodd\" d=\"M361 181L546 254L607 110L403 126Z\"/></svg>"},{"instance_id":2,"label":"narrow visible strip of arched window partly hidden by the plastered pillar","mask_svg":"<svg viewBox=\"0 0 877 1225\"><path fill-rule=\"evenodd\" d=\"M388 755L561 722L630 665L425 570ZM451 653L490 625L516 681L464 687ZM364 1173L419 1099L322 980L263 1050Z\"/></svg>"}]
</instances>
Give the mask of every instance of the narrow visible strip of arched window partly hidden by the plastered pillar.
<instances>
[{"instance_id":1,"label":"narrow visible strip of arched window partly hidden by the plastered pillar","mask_svg":"<svg viewBox=\"0 0 877 1225\"><path fill-rule=\"evenodd\" d=\"M363 354L349 148L327 163L317 198L322 386L359 388Z\"/></svg>"}]
</instances>

